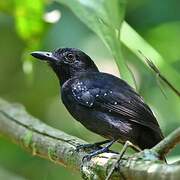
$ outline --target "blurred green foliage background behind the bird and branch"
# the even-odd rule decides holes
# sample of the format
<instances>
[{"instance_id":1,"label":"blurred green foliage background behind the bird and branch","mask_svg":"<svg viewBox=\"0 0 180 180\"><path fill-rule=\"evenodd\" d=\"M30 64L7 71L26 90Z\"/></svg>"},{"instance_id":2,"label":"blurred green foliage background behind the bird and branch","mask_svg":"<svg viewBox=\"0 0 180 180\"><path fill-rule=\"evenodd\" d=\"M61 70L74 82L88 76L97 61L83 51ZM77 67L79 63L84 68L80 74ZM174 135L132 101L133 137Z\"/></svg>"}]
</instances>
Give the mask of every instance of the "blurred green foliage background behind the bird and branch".
<instances>
[{"instance_id":1,"label":"blurred green foliage background behind the bird and branch","mask_svg":"<svg viewBox=\"0 0 180 180\"><path fill-rule=\"evenodd\" d=\"M54 73L47 64L29 55L33 50L76 47L89 54L100 70L119 76L114 58L101 39L60 2L0 1L0 96L22 103L33 116L53 127L95 142L102 138L73 120L64 108ZM171 77L179 88L180 81L168 71L167 64L179 75L180 1L129 0L125 20L161 54L163 74L167 79ZM161 83L165 98L152 71L127 46L122 45L122 52L134 73L137 91L153 109L164 134L169 134L180 126L179 98ZM120 146L115 148L120 151ZM180 159L179 153L178 145L168 160ZM80 179L77 172L33 157L5 137L0 137L0 166L13 173L13 179L14 174L21 176L16 179ZM0 179L11 178L0 176Z\"/></svg>"}]
</instances>

